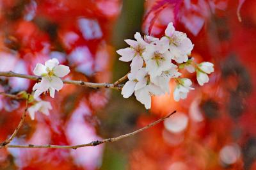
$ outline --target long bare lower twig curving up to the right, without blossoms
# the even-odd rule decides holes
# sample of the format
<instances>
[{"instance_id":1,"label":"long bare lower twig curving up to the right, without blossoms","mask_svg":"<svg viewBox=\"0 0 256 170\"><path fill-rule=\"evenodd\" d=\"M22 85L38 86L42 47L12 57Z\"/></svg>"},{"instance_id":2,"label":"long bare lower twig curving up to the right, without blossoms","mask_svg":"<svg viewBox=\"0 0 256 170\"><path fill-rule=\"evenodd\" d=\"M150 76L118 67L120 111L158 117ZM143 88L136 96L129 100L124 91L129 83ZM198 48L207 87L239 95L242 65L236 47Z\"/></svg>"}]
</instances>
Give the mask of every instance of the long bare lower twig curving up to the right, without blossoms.
<instances>
[{"instance_id":1,"label":"long bare lower twig curving up to the right, without blossoms","mask_svg":"<svg viewBox=\"0 0 256 170\"><path fill-rule=\"evenodd\" d=\"M73 145L73 146L68 146L68 145L52 145L52 144L47 144L47 145L35 145L35 144L28 144L28 145L14 145L14 144L7 144L5 146L3 146L3 148L55 148L55 149L74 149L76 150L77 148L82 148L82 147L86 147L86 146L97 146L99 144L102 143L112 143L115 141L119 141L120 139L124 139L125 137L130 137L132 135L138 134L139 132L142 132L143 130L146 130L150 127L153 127L154 125L156 125L157 123L165 120L166 118L169 118L170 116L172 116L172 114L174 114L176 111L173 111L171 114L168 114L167 116L164 116L163 118L160 118L157 121L154 121L150 124L148 124L147 126L140 128L134 132L131 132L129 134L124 134L124 135L120 135L118 137L112 137L109 139L103 139L102 141L92 141L91 143L86 143L86 144L79 144L79 145Z\"/></svg>"}]
</instances>

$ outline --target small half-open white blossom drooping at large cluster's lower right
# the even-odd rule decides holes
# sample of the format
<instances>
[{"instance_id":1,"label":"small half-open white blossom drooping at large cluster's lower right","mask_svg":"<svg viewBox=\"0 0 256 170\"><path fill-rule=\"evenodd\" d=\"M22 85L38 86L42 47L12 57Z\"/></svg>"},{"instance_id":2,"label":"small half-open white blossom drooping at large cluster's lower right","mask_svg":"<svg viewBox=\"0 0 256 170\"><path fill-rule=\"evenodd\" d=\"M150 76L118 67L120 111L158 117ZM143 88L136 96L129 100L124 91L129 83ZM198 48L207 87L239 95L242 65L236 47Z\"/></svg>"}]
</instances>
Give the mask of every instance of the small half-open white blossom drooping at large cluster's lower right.
<instances>
[{"instance_id":1,"label":"small half-open white blossom drooping at large cluster's lower right","mask_svg":"<svg viewBox=\"0 0 256 170\"><path fill-rule=\"evenodd\" d=\"M194 89L190 87L192 85L190 79L179 79L179 82L180 83L176 86L173 92L173 98L176 102L179 102L180 98L187 98L189 90Z\"/></svg>"}]
</instances>

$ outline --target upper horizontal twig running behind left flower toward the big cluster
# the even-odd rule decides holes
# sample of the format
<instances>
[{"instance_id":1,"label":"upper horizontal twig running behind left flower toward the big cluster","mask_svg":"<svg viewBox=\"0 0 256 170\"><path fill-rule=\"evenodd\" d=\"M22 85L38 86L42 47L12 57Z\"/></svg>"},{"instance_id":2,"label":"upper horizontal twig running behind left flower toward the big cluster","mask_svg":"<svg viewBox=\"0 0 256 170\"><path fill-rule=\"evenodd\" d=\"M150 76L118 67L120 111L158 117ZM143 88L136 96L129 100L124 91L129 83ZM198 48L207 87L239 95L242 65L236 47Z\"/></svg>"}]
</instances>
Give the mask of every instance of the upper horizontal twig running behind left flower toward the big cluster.
<instances>
[{"instance_id":1,"label":"upper horizontal twig running behind left flower toward the big cluster","mask_svg":"<svg viewBox=\"0 0 256 170\"><path fill-rule=\"evenodd\" d=\"M14 72L0 72L0 76L4 77L20 77L24 79L30 79L33 81L40 81L42 77L36 75L26 75L22 73L14 73ZM85 81L72 81L72 80L62 80L65 84L75 84L78 86L86 86L89 88L109 88L109 89L122 89L123 84L113 84L108 82L96 83L96 82L85 82Z\"/></svg>"}]
</instances>

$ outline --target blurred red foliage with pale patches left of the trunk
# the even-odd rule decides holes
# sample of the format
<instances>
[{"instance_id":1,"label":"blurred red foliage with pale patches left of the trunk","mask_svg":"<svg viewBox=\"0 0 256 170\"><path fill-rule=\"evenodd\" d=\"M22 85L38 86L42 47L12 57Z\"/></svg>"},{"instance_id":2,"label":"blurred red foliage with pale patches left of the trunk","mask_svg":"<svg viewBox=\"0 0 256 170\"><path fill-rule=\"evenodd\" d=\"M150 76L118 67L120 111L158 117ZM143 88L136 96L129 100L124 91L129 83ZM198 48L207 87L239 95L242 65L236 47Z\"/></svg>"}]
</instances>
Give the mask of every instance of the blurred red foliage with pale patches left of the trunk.
<instances>
[{"instance_id":1,"label":"blurred red foliage with pale patches left of the trunk","mask_svg":"<svg viewBox=\"0 0 256 170\"><path fill-rule=\"evenodd\" d=\"M113 23L120 13L119 0L3 0L0 3L0 70L33 74L36 63L58 58L70 66L68 79L111 81ZM6 93L31 92L35 82L0 79ZM93 114L108 101L104 89L64 86L51 102L51 116L37 113L26 118L13 143L81 144L100 139ZM12 134L24 103L1 97L0 140ZM0 150L0 169L96 169L103 145L80 150ZM8 158L8 157L14 158ZM14 163L14 164L13 164Z\"/></svg>"}]
</instances>

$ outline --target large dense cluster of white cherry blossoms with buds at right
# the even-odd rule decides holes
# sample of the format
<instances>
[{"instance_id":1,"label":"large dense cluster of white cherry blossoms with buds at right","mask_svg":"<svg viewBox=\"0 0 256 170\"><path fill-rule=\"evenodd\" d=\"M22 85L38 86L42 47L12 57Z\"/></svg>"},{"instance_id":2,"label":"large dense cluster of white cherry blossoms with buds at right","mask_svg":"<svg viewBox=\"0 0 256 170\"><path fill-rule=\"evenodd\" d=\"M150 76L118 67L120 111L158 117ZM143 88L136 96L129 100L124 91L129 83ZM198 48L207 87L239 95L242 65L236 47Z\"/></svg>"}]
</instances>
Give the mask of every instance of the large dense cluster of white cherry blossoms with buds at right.
<instances>
[{"instance_id":1,"label":"large dense cluster of white cherry blossoms with buds at right","mask_svg":"<svg viewBox=\"0 0 256 170\"><path fill-rule=\"evenodd\" d=\"M151 107L151 97L170 93L170 79L175 79L177 86L173 92L176 101L188 96L192 82L188 78L181 77L180 68L188 72L195 72L198 83L202 86L209 81L207 74L214 71L213 64L203 62L195 64L193 58L189 58L193 43L186 33L175 31L173 23L168 24L165 35L155 38L136 33L136 40L125 40L130 45L125 49L117 50L120 60L131 61L131 72L122 89L124 98L131 97L134 93L136 99L144 104L146 109Z\"/></svg>"}]
</instances>

